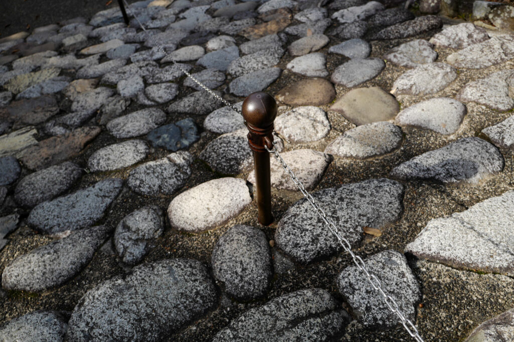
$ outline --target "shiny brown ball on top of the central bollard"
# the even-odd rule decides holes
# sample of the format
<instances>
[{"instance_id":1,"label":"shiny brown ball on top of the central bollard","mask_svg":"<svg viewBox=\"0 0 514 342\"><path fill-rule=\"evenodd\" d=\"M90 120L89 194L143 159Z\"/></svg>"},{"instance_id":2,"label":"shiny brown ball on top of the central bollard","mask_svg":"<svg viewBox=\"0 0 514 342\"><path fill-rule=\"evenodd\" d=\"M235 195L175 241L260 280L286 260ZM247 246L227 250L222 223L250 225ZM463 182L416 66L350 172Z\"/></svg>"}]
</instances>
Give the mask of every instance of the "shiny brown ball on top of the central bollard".
<instances>
[{"instance_id":1,"label":"shiny brown ball on top of the central bollard","mask_svg":"<svg viewBox=\"0 0 514 342\"><path fill-rule=\"evenodd\" d=\"M251 93L243 102L243 118L256 128L265 129L277 117L277 102L273 96L258 91Z\"/></svg>"}]
</instances>

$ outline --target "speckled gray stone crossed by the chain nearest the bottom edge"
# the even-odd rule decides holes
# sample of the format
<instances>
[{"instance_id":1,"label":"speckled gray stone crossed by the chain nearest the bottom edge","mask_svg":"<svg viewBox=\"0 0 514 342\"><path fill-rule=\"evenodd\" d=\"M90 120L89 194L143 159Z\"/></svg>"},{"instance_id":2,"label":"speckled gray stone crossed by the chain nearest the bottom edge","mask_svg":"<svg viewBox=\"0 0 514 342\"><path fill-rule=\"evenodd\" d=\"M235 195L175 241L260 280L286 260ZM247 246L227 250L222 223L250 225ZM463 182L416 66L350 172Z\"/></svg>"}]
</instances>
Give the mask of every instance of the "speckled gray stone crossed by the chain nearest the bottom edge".
<instances>
[{"instance_id":1,"label":"speckled gray stone crossed by the chain nearest the bottom edge","mask_svg":"<svg viewBox=\"0 0 514 342\"><path fill-rule=\"evenodd\" d=\"M414 321L421 291L403 254L393 250L374 254L364 260L366 269L380 280L382 290L391 296L405 318ZM337 277L339 292L352 307L365 327L396 327L400 321L391 312L382 295L368 283L366 275L356 266L345 268Z\"/></svg>"}]
</instances>

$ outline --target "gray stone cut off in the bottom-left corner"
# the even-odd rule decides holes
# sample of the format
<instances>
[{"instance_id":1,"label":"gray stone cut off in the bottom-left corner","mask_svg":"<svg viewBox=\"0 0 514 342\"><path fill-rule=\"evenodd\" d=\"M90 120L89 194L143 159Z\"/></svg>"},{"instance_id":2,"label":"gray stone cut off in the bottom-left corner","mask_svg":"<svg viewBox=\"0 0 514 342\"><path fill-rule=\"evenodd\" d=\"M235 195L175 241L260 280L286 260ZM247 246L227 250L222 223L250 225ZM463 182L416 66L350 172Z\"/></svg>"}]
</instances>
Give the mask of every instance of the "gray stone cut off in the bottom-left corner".
<instances>
[{"instance_id":1,"label":"gray stone cut off in the bottom-left corner","mask_svg":"<svg viewBox=\"0 0 514 342\"><path fill-rule=\"evenodd\" d=\"M0 328L6 341L64 341L66 318L52 311L35 311L8 321Z\"/></svg>"}]
</instances>

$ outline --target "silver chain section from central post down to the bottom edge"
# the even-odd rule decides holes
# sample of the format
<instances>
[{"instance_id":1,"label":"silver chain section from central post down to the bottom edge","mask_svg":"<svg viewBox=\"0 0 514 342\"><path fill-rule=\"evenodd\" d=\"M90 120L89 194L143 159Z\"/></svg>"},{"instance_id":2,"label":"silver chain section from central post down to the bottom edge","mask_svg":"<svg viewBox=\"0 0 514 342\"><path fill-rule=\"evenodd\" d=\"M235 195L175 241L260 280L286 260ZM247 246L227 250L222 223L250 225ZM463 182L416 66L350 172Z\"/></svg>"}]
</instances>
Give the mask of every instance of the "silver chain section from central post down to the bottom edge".
<instances>
[{"instance_id":1,"label":"silver chain section from central post down to the bottom edge","mask_svg":"<svg viewBox=\"0 0 514 342\"><path fill-rule=\"evenodd\" d=\"M391 312L395 313L396 316L398 316L398 318L400 319L400 323L403 326L403 328L405 328L405 330L407 330L409 335L414 337L414 339L416 341L424 342L423 338L421 338L421 336L419 335L419 332L416 329L416 327L414 326L414 324L412 323L412 321L410 319L406 318L403 315L403 313L400 311L400 308L398 307L398 304L396 303L396 301L390 295L387 295L383 291L382 284L381 284L380 280L378 279L378 277L376 275L370 273L366 269L364 260L362 260L362 258L360 256L355 255L354 252L352 252L352 245L350 245L350 242L348 242L348 240L342 236L341 231L328 219L328 217L326 216L326 213L323 211L323 209L321 209L318 206L318 204L314 201L313 196L311 196L311 194L307 190L305 190L302 182L300 182L300 180L295 176L295 173L293 173L291 171L291 169L289 168L289 166L287 166L286 162L284 162L284 159L282 159L279 152L277 151L277 145L273 142L272 150L270 150L267 146L265 146L265 148L269 153L272 153L273 156L275 157L275 159L277 159L277 161L282 165L282 168L284 169L284 171L291 177L292 181L298 186L298 189L300 189L303 196L308 200L310 205L313 206L313 208L316 210L316 212L321 217L323 222L328 226L328 229L332 232L332 234L334 234L334 236L337 238L337 240L341 244L341 246L343 246L343 249L346 252L350 253L350 256L352 257L355 266L357 266L357 268L364 273L364 275L366 276L366 279L369 281L369 283L371 284L373 289L375 289L382 295L383 300L386 303L389 310L391 310Z\"/></svg>"}]
</instances>

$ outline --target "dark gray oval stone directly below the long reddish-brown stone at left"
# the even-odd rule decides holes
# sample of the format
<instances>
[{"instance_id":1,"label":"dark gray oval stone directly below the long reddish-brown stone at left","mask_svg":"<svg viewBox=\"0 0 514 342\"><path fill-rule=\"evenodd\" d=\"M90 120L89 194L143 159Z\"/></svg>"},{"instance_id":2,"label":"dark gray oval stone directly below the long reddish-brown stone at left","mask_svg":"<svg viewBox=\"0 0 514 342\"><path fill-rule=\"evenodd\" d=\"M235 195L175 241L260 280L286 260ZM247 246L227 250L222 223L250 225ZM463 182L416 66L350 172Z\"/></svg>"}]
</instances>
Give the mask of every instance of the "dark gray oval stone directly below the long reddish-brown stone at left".
<instances>
[{"instance_id":1,"label":"dark gray oval stone directly below the long reddish-brown stone at left","mask_svg":"<svg viewBox=\"0 0 514 342\"><path fill-rule=\"evenodd\" d=\"M32 208L68 190L82 175L82 169L71 162L31 173L20 180L14 189L14 200Z\"/></svg>"}]
</instances>

